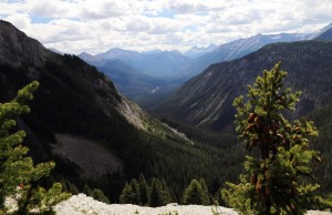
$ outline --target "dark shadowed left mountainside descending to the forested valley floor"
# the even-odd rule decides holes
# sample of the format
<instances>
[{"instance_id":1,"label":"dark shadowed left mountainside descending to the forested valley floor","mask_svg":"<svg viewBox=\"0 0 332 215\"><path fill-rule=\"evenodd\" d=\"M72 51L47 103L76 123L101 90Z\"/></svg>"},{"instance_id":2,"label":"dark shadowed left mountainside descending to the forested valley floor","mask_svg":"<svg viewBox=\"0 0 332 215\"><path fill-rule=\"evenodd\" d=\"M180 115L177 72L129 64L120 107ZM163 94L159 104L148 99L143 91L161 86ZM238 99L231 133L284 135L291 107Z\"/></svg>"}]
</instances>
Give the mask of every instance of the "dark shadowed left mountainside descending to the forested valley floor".
<instances>
[{"instance_id":1,"label":"dark shadowed left mountainside descending to the forested valley floor","mask_svg":"<svg viewBox=\"0 0 332 215\"><path fill-rule=\"evenodd\" d=\"M76 191L74 184L82 192L89 183L115 201L124 182L143 173L164 177L179 197L194 177L205 177L214 192L236 178L238 167L221 167L238 166L220 160L226 152L194 143L147 115L80 58L49 51L6 21L0 21L0 102L32 80L40 82L19 126L28 132L24 143L35 161L56 162L50 180L68 190Z\"/></svg>"}]
</instances>

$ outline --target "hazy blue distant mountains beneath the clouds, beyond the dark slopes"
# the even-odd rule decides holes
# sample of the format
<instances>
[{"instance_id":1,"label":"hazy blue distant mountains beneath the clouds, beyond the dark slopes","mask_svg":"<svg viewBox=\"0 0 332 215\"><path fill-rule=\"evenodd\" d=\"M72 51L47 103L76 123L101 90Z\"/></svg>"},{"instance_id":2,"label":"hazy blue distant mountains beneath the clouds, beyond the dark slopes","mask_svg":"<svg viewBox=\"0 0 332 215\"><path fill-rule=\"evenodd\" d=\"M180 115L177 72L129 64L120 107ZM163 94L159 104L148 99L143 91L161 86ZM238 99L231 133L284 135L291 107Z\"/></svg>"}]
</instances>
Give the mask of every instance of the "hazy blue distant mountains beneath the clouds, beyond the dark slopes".
<instances>
[{"instance_id":1,"label":"hazy blue distant mountains beneath the clouds, beyond the dark slopes","mask_svg":"<svg viewBox=\"0 0 332 215\"><path fill-rule=\"evenodd\" d=\"M83 52L79 57L87 63L96 65L108 76L115 72L118 78L120 73L118 68L112 68L111 64L104 66L107 60L120 60L123 64L126 64L126 68L131 66L136 71L135 78L133 79L124 72L121 81L114 79L115 85L123 94L144 109L153 110L162 101L174 94L185 81L201 73L214 63L241 58L270 43L311 40L324 32L328 33L331 28L332 23L313 33L257 34L220 45L193 47L183 54L178 51L154 50L141 53L111 49L96 55ZM138 78L139 75L141 78ZM131 88L123 85L125 79L128 79L126 82L131 82ZM133 88L136 89L135 92L133 92Z\"/></svg>"}]
</instances>

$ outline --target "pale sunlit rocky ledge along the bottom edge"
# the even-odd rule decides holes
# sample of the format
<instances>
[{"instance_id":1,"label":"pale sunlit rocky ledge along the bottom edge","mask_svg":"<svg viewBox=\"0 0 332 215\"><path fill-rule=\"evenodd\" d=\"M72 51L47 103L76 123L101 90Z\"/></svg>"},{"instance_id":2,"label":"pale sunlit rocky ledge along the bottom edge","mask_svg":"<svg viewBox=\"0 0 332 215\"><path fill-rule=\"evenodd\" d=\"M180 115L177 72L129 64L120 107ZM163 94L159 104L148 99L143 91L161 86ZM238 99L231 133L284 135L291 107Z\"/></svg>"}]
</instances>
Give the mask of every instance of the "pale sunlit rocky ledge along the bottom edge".
<instances>
[{"instance_id":1,"label":"pale sunlit rocky ledge along the bottom edge","mask_svg":"<svg viewBox=\"0 0 332 215\"><path fill-rule=\"evenodd\" d=\"M177 205L168 204L163 207L143 207L138 205L105 204L93 199L84 194L73 195L71 198L59 203L54 207L59 215L212 215L217 209L219 215L238 215L231 208L201 206L201 205ZM331 212L310 211L308 215L332 215Z\"/></svg>"}]
</instances>

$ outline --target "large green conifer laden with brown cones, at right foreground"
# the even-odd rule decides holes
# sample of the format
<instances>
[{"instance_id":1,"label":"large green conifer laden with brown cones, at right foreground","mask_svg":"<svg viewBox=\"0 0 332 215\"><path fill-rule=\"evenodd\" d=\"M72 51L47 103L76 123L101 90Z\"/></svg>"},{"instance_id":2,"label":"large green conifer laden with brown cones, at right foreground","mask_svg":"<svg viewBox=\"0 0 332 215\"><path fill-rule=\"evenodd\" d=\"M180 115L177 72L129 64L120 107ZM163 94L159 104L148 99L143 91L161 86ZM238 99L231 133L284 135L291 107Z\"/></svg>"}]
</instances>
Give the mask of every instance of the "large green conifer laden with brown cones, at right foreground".
<instances>
[{"instance_id":1,"label":"large green conifer laden with brown cones, at right foreground","mask_svg":"<svg viewBox=\"0 0 332 215\"><path fill-rule=\"evenodd\" d=\"M236 131L251 153L240 183L227 183L222 197L245 214L303 214L321 199L319 185L310 181L312 160L320 157L309 143L318 131L312 122L283 116L294 110L301 92L283 86L287 72L280 65L248 86L248 101L242 95L234 101Z\"/></svg>"}]
</instances>

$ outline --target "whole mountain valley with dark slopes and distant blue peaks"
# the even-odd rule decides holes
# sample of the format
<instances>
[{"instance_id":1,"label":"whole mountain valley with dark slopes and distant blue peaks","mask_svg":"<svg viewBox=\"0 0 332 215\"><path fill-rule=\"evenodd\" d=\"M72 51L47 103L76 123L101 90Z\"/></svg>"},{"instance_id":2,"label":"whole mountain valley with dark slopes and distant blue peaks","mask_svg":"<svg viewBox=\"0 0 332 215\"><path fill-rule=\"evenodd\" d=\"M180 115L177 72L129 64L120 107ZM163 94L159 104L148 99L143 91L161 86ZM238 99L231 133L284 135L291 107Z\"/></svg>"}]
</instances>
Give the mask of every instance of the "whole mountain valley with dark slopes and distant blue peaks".
<instances>
[{"instance_id":1,"label":"whole mountain valley with dark slopes and distant blue peaks","mask_svg":"<svg viewBox=\"0 0 332 215\"><path fill-rule=\"evenodd\" d=\"M18 117L18 127L27 131L24 145L34 161L56 163L43 184L60 181L73 194L98 188L118 203L124 187L137 190L144 175L148 198L158 182L168 203L181 203L190 181L204 178L209 204L226 205L220 188L239 181L246 155L235 132L232 102L281 61L289 72L286 86L302 91L297 111L284 115L308 117L318 126L312 149L321 152L322 162L313 171L321 175L319 191L328 195L331 29L257 34L184 53L116 48L73 55L55 53L1 20L0 102L39 81L31 113Z\"/></svg>"}]
</instances>

